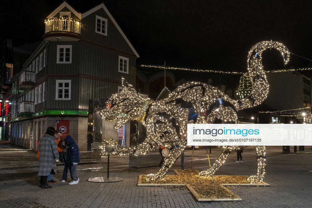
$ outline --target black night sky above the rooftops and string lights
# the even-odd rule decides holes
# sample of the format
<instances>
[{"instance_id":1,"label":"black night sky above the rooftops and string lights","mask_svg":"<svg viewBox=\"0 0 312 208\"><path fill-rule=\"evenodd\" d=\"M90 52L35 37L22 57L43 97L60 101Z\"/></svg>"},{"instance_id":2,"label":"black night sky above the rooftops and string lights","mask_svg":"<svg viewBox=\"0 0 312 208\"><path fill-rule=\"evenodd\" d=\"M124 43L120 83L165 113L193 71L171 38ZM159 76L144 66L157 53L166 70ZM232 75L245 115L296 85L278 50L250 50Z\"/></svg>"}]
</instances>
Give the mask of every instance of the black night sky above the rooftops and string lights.
<instances>
[{"instance_id":1,"label":"black night sky above the rooftops and string lights","mask_svg":"<svg viewBox=\"0 0 312 208\"><path fill-rule=\"evenodd\" d=\"M41 41L45 17L62 2L1 1L1 42L5 37ZM81 13L104 2L138 51L138 65L166 60L167 66L244 72L248 50L262 40L280 41L306 58L312 55L312 1L67 2ZM283 67L274 50L263 61L268 70ZM291 56L287 68L308 65Z\"/></svg>"}]
</instances>

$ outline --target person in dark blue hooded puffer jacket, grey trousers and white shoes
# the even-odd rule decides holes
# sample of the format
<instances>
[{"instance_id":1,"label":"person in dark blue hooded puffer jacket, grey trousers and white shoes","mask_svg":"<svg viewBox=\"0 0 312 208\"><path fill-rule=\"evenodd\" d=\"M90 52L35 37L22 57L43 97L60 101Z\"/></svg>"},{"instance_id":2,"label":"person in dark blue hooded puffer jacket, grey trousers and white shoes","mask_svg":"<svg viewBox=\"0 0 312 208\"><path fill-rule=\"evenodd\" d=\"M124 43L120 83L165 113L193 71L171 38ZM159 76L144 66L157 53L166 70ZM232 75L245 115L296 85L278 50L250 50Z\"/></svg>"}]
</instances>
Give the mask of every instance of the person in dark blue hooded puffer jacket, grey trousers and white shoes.
<instances>
[{"instance_id":1,"label":"person in dark blue hooded puffer jacket, grey trousers and white shoes","mask_svg":"<svg viewBox=\"0 0 312 208\"><path fill-rule=\"evenodd\" d=\"M80 162L79 147L75 143L71 135L66 136L65 142L68 145L68 157L69 157L69 161L71 164L72 181L69 183L69 185L74 185L74 184L79 183L79 177L78 177L78 172L77 172L77 165Z\"/></svg>"}]
</instances>

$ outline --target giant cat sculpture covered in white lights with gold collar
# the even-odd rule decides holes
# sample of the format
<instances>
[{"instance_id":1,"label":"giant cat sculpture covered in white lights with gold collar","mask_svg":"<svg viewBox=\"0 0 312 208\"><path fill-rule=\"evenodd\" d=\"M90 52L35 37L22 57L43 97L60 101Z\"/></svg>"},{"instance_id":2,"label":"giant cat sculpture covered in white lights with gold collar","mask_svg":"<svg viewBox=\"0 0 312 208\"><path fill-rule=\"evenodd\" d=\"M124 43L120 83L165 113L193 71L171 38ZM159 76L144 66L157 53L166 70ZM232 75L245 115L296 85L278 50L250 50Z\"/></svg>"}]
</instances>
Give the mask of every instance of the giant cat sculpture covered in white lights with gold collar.
<instances>
[{"instance_id":1,"label":"giant cat sculpture covered in white lights with gold collar","mask_svg":"<svg viewBox=\"0 0 312 208\"><path fill-rule=\"evenodd\" d=\"M147 129L147 138L141 144L132 148L118 146L111 139L104 141L105 145L113 145L113 155L142 155L153 151L158 145L167 147L170 152L165 158L158 173L149 174L147 180L161 179L169 168L187 147L188 123L238 123L237 111L252 108L261 104L267 97L269 85L261 63L262 52L275 48L280 51L284 63L289 61L290 53L281 43L262 41L248 52L247 70L252 83L251 94L240 100L229 98L219 89L200 82L187 82L178 86L168 98L152 101L142 97L124 78L122 91L113 94L107 101L107 106L100 111L105 120L116 120L115 129L122 127L130 120L138 120ZM207 171L200 176L211 177L225 162L232 150L246 146L219 146L223 152ZM266 147L255 146L257 172L248 177L251 183L260 183L265 176Z\"/></svg>"}]
</instances>

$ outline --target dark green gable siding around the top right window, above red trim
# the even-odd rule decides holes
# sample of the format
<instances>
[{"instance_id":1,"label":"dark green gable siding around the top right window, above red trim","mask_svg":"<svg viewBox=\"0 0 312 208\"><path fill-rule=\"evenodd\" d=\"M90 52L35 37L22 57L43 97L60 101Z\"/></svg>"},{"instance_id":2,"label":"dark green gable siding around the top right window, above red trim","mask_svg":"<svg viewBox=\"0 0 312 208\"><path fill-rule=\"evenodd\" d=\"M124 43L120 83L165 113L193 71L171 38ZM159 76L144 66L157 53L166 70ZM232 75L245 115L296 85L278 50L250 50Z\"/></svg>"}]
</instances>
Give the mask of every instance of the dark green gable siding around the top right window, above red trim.
<instances>
[{"instance_id":1,"label":"dark green gable siding around the top right window, above red trim","mask_svg":"<svg viewBox=\"0 0 312 208\"><path fill-rule=\"evenodd\" d=\"M95 15L107 19L107 36L95 32ZM124 37L120 34L103 8L82 18L81 23L81 36L83 39L133 53L128 43L124 40Z\"/></svg>"}]
</instances>

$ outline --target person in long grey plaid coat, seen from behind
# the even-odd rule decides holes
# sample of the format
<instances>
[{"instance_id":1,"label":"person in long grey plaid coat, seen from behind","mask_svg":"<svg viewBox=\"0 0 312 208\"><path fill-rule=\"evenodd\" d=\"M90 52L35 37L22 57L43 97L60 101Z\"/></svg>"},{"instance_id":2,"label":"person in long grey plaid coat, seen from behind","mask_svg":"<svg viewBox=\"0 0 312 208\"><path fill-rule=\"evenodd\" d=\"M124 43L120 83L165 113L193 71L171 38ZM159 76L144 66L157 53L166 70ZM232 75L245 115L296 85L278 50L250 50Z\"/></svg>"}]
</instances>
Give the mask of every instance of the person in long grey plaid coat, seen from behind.
<instances>
[{"instance_id":1,"label":"person in long grey plaid coat, seen from behind","mask_svg":"<svg viewBox=\"0 0 312 208\"><path fill-rule=\"evenodd\" d=\"M59 160L59 153L54 138L56 131L53 127L48 127L46 133L40 139L39 172L41 188L52 188L47 184L48 175L56 174L56 162Z\"/></svg>"}]
</instances>

